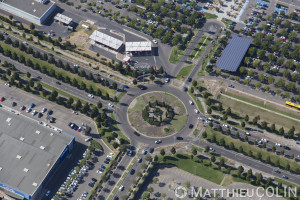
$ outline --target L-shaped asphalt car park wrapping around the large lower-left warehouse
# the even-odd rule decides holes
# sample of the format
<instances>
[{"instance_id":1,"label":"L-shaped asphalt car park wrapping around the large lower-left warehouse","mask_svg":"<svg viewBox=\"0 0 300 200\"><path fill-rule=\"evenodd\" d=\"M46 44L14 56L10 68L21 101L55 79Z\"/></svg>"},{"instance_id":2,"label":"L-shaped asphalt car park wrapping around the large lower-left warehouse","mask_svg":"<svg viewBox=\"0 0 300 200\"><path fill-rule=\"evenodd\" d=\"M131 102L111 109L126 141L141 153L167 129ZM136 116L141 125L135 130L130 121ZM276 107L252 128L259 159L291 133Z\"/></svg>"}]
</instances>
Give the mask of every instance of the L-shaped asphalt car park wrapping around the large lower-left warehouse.
<instances>
[{"instance_id":1,"label":"L-shaped asphalt car park wrapping around the large lower-left warehouse","mask_svg":"<svg viewBox=\"0 0 300 200\"><path fill-rule=\"evenodd\" d=\"M56 174L54 174L54 176L47 183L46 187L43 188L43 192L41 193L40 199L51 199L51 197L55 195L55 193L59 190L64 181L67 180L69 173L72 173L73 169L75 169L75 167L78 166L78 162L83 158L83 154L87 150L87 147L89 145L89 143L86 142L85 139L88 137L93 137L97 142L99 142L102 145L104 151L100 152L97 155L91 153L91 162L94 164L91 164L90 166L94 167L91 167L91 169L89 170L80 168L80 172L85 172L82 176L82 180L78 181L78 186L76 187L76 190L74 191L73 195L71 195L70 199L78 199L84 192L89 192L91 187L88 186L88 183L91 181L92 178L97 179L100 176L99 174L97 174L97 170L101 166L101 164L104 164L104 160L106 159L105 155L109 155L109 153L111 153L110 149L108 149L106 145L104 145L102 141L100 141L100 139L97 138L98 133L94 122L84 115L75 115L72 113L71 110L68 110L62 106L58 106L41 98L37 98L17 88L8 87L7 85L4 85L4 82L2 81L0 82L0 91L0 98L4 97L4 101L1 102L1 104L15 109L30 118L33 118L38 121L43 121L45 123L47 111L52 110L52 114L50 116L52 116L55 119L55 122L48 124L75 136L76 144L74 146L74 149L72 150L71 154L67 156L65 161L62 163L62 166L60 167L60 169L64 170L58 170ZM15 102L14 106L12 106L13 102ZM32 103L35 104L35 106L32 108L32 111L36 110L38 113L42 113L41 111L43 108L47 108L47 111L44 112L41 117L38 116L39 114L32 115L32 111L27 113L26 110L28 109L28 107L30 107ZM25 107L23 111L20 110L21 106ZM82 123L84 123L87 126L91 127L90 135L86 136L83 134L82 131L78 132L74 129L71 129L68 126L69 122L75 123L79 126ZM48 197L46 197L44 195L47 193L48 190L50 192L48 194Z\"/></svg>"}]
</instances>

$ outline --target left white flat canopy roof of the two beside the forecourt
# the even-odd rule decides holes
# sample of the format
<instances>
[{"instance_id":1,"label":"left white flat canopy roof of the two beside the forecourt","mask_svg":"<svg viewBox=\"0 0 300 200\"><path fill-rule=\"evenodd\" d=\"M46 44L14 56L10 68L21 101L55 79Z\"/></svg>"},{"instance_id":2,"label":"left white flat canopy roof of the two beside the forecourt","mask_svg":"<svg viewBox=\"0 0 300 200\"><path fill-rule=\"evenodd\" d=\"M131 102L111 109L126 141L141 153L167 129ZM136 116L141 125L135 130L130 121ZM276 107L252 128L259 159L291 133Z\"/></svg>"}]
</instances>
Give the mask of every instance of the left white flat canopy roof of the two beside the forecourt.
<instances>
[{"instance_id":1,"label":"left white flat canopy roof of the two beside the forecourt","mask_svg":"<svg viewBox=\"0 0 300 200\"><path fill-rule=\"evenodd\" d=\"M95 40L96 42L104 44L105 46L108 46L115 50L119 49L123 44L123 41L118 40L117 38L111 37L105 33L97 31L97 30L95 30L92 33L92 35L90 36L90 39Z\"/></svg>"}]
</instances>

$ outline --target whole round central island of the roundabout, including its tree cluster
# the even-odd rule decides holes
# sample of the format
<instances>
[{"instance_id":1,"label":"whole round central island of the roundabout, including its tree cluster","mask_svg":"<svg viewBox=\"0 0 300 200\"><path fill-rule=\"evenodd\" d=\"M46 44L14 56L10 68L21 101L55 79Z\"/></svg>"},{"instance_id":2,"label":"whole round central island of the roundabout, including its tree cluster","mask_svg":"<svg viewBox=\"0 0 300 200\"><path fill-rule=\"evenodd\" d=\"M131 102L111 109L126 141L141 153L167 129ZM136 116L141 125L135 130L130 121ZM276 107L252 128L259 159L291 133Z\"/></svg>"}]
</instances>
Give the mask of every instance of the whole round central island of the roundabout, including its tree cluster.
<instances>
[{"instance_id":1,"label":"whole round central island of the roundabout, including its tree cluster","mask_svg":"<svg viewBox=\"0 0 300 200\"><path fill-rule=\"evenodd\" d=\"M149 137L166 137L179 132L187 121L184 104L167 92L148 92L135 98L128 119L137 132Z\"/></svg>"}]
</instances>

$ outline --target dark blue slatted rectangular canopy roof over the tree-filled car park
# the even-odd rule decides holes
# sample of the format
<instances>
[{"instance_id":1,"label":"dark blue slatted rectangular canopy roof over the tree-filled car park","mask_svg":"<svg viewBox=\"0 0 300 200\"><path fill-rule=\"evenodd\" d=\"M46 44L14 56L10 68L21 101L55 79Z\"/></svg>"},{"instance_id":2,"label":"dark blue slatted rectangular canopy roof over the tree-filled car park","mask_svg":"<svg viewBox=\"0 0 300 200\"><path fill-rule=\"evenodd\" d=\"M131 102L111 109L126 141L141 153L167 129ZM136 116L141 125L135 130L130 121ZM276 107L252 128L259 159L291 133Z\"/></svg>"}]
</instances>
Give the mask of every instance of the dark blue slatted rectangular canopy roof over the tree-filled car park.
<instances>
[{"instance_id":1,"label":"dark blue slatted rectangular canopy roof over the tree-filled car park","mask_svg":"<svg viewBox=\"0 0 300 200\"><path fill-rule=\"evenodd\" d=\"M251 42L252 40L248 38L232 36L216 66L235 72L239 68Z\"/></svg>"}]
</instances>

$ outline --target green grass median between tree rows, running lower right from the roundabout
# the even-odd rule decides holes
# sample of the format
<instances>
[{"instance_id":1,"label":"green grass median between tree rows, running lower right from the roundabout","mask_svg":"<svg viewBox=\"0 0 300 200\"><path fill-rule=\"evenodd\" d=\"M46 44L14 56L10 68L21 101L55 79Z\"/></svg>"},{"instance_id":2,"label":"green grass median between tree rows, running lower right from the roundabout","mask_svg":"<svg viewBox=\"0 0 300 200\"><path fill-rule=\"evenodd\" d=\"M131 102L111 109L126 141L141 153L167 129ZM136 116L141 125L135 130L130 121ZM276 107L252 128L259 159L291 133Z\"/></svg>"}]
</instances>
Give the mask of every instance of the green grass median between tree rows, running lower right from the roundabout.
<instances>
[{"instance_id":1,"label":"green grass median between tree rows, running lower right from the roundabout","mask_svg":"<svg viewBox=\"0 0 300 200\"><path fill-rule=\"evenodd\" d=\"M247 142L242 142L242 141L240 141L238 139L233 139L233 138L231 138L231 136L222 134L222 133L220 133L218 131L214 131L210 127L206 128L206 132L207 132L207 135L208 135L206 139L211 139L212 135L215 135L217 142L219 142L220 139L223 138L226 145L229 145L229 143L232 142L234 144L234 147L236 149L238 149L240 146L242 146L243 147L243 151L246 152L246 153L248 153L249 150L251 150L253 152L253 155L255 156L258 152L260 152L261 155L262 155L262 160L266 160L267 156L270 156L270 160L271 160L272 163L275 163L275 161L279 160L280 166L282 166L283 168L288 163L290 164L291 169L294 170L294 171L296 170L297 167L299 167L299 165L295 161L292 161L290 159L284 158L283 156L277 156L273 152L268 152L265 149L262 149L262 148L259 148L257 146L248 144ZM243 136L240 136L240 137L243 137Z\"/></svg>"}]
</instances>

